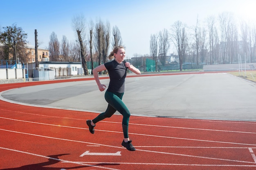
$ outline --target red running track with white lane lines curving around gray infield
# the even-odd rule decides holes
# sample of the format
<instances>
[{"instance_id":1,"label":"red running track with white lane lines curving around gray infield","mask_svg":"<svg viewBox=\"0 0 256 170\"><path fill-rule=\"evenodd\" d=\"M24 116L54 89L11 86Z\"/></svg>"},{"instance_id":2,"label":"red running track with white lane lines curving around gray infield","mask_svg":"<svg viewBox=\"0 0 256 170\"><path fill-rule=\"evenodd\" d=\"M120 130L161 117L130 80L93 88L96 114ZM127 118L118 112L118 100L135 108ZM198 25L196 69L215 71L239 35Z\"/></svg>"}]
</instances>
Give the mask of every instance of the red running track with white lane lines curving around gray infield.
<instances>
[{"instance_id":1,"label":"red running track with white lane lines curving around gray infield","mask_svg":"<svg viewBox=\"0 0 256 170\"><path fill-rule=\"evenodd\" d=\"M2 84L0 92L84 80ZM131 152L121 147L122 116L98 122L92 135L85 120L97 115L0 100L0 169L256 169L256 122L131 116Z\"/></svg>"}]
</instances>

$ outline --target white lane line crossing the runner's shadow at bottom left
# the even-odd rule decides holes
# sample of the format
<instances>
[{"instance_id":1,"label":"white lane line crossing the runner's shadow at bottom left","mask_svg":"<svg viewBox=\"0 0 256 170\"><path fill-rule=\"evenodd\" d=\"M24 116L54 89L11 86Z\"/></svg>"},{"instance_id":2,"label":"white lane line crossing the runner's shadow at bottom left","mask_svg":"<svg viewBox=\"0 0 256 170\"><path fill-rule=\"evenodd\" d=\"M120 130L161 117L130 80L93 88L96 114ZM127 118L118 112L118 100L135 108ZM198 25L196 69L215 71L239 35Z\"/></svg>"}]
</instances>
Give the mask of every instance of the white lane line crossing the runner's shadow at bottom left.
<instances>
[{"instance_id":1,"label":"white lane line crossing the runner's shadow at bottom left","mask_svg":"<svg viewBox=\"0 0 256 170\"><path fill-rule=\"evenodd\" d=\"M76 162L76 161L67 161L67 160L64 160L64 159L57 159L57 158L47 157L47 156L44 156L44 155L38 155L38 154L24 152L24 151L16 150L16 149L9 149L9 148L3 148L3 147L0 147L0 149L10 150L10 151L18 152L18 153L25 153L25 154L28 154L28 155L43 157L43 158L47 158L47 159L53 159L53 160L62 161L62 162L65 162L65 163L74 163L74 164L78 164L78 165L84 165L84 166L90 166L90 167L96 167L96 168L102 168L102 169L108 169L108 170L117 170L117 169L113 169L113 168L106 168L106 167L101 167L101 166L89 165L89 164L86 164L86 163L81 163L81 162Z\"/></svg>"}]
</instances>

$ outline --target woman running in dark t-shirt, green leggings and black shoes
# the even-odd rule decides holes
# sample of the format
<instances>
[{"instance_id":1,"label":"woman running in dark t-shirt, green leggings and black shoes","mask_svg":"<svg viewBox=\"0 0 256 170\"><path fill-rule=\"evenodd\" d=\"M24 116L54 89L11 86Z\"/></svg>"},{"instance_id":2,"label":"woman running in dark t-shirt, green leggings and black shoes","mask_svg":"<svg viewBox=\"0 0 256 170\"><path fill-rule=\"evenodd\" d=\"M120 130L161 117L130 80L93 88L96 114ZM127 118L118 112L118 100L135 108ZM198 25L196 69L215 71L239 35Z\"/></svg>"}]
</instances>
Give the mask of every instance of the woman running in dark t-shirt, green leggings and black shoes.
<instances>
[{"instance_id":1,"label":"woman running in dark t-shirt, green leggings and black shoes","mask_svg":"<svg viewBox=\"0 0 256 170\"><path fill-rule=\"evenodd\" d=\"M136 149L132 145L132 141L129 139L128 136L130 111L122 101L122 98L124 95L124 83L127 69L134 72L135 74L140 74L140 71L129 62L125 62L124 57L124 47L116 46L108 56L108 59L111 60L114 58L114 60L99 65L97 68L94 68L92 70L95 81L101 92L106 89L106 85L101 84L98 72L108 70L110 83L108 85L108 89L105 92L105 99L108 102L108 107L105 112L99 114L99 116L97 116L93 120L86 120L86 124L89 126L90 133L94 134L94 127L97 122L105 118L110 118L116 111L119 111L119 113L121 113L123 116L122 127L124 133L124 140L121 145L130 151L134 151Z\"/></svg>"}]
</instances>

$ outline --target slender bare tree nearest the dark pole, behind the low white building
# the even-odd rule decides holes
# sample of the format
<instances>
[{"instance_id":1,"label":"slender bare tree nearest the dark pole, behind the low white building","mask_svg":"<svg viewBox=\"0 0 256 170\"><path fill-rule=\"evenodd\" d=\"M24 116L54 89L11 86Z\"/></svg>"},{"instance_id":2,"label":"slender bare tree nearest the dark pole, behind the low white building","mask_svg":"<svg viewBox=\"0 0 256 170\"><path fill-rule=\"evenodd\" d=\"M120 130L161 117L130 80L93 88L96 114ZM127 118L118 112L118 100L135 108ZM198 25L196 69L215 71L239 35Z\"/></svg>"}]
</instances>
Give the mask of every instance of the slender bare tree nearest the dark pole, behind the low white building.
<instances>
[{"instance_id":1,"label":"slender bare tree nearest the dark pole, behind the low white building","mask_svg":"<svg viewBox=\"0 0 256 170\"><path fill-rule=\"evenodd\" d=\"M49 55L50 61L60 61L60 43L57 35L52 32L49 41Z\"/></svg>"}]
</instances>

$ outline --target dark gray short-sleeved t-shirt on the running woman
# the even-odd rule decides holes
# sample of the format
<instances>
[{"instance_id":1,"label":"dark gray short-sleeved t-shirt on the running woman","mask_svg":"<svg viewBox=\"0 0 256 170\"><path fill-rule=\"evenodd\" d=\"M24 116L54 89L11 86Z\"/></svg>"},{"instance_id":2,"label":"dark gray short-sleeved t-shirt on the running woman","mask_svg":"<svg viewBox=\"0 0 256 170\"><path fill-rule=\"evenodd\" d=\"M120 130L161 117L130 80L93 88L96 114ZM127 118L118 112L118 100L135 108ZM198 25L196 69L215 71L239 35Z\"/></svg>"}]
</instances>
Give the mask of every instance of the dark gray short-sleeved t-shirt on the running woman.
<instances>
[{"instance_id":1,"label":"dark gray short-sleeved t-shirt on the running woman","mask_svg":"<svg viewBox=\"0 0 256 170\"><path fill-rule=\"evenodd\" d=\"M122 63L117 63L117 61L113 60L104 64L110 77L110 82L107 89L108 92L124 93L124 83L127 70L124 63L125 61Z\"/></svg>"}]
</instances>

